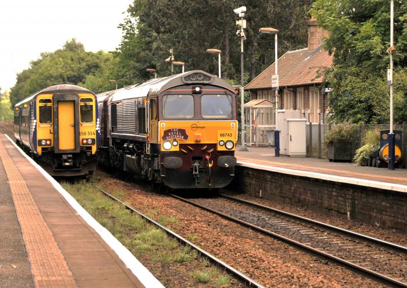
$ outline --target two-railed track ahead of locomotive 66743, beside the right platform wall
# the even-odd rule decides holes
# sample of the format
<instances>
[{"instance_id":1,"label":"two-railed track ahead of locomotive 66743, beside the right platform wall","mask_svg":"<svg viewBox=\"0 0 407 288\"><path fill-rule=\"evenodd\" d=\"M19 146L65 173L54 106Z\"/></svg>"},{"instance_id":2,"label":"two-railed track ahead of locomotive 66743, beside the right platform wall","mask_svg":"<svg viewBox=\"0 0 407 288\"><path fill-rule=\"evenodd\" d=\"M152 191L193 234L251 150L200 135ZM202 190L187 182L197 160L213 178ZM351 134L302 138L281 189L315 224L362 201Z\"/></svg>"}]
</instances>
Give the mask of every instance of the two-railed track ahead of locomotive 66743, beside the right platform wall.
<instances>
[{"instance_id":1,"label":"two-railed track ahead of locomotive 66743, beside the right platform wall","mask_svg":"<svg viewBox=\"0 0 407 288\"><path fill-rule=\"evenodd\" d=\"M407 247L222 194L194 199L170 195L386 284L407 287Z\"/></svg>"}]
</instances>

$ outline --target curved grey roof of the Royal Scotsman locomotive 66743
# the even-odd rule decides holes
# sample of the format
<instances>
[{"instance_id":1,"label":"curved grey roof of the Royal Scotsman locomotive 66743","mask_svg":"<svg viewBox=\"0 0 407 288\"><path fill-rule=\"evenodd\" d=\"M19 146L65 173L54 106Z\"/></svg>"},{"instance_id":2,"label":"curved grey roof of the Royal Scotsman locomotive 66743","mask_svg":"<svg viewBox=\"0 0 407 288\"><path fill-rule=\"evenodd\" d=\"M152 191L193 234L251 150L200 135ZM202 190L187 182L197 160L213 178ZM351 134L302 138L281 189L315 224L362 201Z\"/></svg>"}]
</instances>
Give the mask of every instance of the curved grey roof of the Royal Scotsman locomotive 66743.
<instances>
[{"instance_id":1,"label":"curved grey roof of the Royal Scotsman locomotive 66743","mask_svg":"<svg viewBox=\"0 0 407 288\"><path fill-rule=\"evenodd\" d=\"M191 76L193 74L195 75L199 74L200 77L202 77L203 79L192 81L188 78L188 76ZM230 85L227 81L214 75L211 75L207 72L203 72L201 70L193 70L163 78L150 79L149 81L141 84L135 84L118 90L113 90L111 91L111 93L109 93L109 95L112 95L110 101L115 102L126 99L146 97L147 95L157 95L163 90L185 84L194 84L194 85L211 84L225 88L230 91L235 91L234 87ZM107 93L108 92L100 93L97 96L104 99Z\"/></svg>"}]
</instances>

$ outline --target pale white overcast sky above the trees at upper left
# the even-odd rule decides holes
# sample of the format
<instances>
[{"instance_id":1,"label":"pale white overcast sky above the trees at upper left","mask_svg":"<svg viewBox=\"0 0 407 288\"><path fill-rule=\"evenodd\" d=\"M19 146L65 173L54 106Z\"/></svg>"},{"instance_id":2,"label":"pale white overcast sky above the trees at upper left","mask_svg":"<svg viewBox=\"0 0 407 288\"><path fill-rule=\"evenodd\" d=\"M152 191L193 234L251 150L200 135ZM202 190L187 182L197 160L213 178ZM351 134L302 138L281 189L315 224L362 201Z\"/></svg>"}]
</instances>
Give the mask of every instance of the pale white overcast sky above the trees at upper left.
<instances>
[{"instance_id":1,"label":"pale white overcast sky above the trees at upper left","mask_svg":"<svg viewBox=\"0 0 407 288\"><path fill-rule=\"evenodd\" d=\"M132 0L0 0L0 87L14 86L17 73L41 52L76 38L86 51L112 51L121 40L122 14Z\"/></svg>"}]
</instances>

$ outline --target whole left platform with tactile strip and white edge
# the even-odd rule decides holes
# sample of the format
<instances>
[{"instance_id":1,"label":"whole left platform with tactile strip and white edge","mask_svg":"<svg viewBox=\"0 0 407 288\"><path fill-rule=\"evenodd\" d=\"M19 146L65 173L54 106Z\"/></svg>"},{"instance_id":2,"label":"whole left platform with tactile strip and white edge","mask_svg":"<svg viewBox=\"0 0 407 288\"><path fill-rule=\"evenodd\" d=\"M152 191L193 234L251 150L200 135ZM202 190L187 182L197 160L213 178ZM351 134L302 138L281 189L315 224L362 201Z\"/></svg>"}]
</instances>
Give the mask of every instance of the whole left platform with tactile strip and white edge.
<instances>
[{"instance_id":1,"label":"whole left platform with tactile strip and white edge","mask_svg":"<svg viewBox=\"0 0 407 288\"><path fill-rule=\"evenodd\" d=\"M0 287L163 287L0 133Z\"/></svg>"}]
</instances>

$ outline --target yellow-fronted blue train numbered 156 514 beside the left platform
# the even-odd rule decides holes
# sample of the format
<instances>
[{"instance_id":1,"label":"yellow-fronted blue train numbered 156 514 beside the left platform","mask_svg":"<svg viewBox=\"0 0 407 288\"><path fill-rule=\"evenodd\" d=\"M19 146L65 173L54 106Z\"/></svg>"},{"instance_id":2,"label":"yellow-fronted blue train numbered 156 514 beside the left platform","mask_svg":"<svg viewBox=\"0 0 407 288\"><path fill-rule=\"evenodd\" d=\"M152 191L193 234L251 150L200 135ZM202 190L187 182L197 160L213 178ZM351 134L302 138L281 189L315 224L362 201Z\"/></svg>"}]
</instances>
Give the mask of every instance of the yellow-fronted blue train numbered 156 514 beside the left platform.
<instances>
[{"instance_id":1,"label":"yellow-fronted blue train numbered 156 514 beside the left platform","mask_svg":"<svg viewBox=\"0 0 407 288\"><path fill-rule=\"evenodd\" d=\"M42 89L15 105L14 136L52 176L91 174L100 142L96 95L72 84Z\"/></svg>"}]
</instances>

